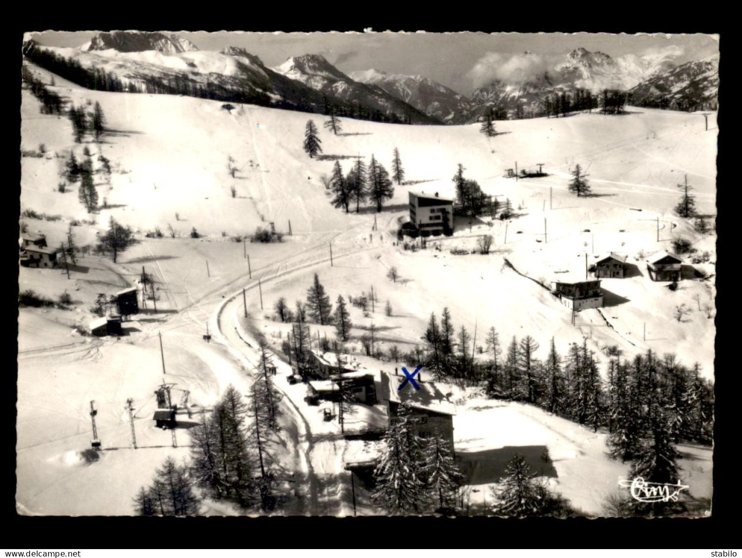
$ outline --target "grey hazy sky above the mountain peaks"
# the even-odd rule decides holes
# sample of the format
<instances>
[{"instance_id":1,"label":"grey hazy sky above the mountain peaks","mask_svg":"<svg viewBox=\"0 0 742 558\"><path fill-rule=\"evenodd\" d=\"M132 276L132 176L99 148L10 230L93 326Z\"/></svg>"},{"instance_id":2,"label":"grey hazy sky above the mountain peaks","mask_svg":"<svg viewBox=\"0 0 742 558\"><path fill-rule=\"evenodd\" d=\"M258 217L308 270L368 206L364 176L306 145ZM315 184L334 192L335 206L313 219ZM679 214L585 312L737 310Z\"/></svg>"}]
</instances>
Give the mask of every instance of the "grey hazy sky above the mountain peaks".
<instances>
[{"instance_id":1,"label":"grey hazy sky above the mountain peaks","mask_svg":"<svg viewBox=\"0 0 742 558\"><path fill-rule=\"evenodd\" d=\"M470 95L503 68L533 70L578 47L613 58L634 54L683 64L718 53L718 36L614 33L214 33L176 31L200 50L244 47L268 67L291 56L321 54L344 73L375 68L419 75ZM77 47L93 32L33 33L42 44ZM528 56L524 57L524 53Z\"/></svg>"}]
</instances>

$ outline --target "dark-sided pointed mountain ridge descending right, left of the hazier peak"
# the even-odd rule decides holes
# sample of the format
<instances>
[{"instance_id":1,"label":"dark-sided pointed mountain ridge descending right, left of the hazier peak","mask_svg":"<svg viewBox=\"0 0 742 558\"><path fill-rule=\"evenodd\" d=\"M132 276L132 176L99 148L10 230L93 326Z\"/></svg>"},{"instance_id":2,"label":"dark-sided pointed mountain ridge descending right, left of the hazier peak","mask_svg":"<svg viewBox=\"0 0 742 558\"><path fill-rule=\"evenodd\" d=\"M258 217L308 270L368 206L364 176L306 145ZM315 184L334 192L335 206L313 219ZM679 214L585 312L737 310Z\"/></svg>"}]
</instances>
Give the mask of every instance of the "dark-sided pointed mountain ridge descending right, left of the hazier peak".
<instances>
[{"instance_id":1,"label":"dark-sided pointed mountain ridge descending right, left of the hazier peak","mask_svg":"<svg viewBox=\"0 0 742 558\"><path fill-rule=\"evenodd\" d=\"M331 93L346 102L372 107L387 116L394 114L399 122L409 120L412 124L439 123L438 119L390 95L383 88L355 81L318 54L294 56L274 70L312 89Z\"/></svg>"}]
</instances>

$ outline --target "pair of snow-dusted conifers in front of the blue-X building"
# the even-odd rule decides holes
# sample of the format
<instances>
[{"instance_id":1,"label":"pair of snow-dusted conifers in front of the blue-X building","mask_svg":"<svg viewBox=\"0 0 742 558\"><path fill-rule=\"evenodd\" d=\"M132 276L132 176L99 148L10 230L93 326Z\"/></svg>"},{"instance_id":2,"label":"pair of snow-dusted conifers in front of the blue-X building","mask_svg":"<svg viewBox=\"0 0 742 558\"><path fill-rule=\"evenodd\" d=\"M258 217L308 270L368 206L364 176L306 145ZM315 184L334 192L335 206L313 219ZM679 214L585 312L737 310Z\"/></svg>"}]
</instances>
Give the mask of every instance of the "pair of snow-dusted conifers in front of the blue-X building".
<instances>
[{"instance_id":1,"label":"pair of snow-dusted conifers in front of the blue-X building","mask_svg":"<svg viewBox=\"0 0 742 558\"><path fill-rule=\"evenodd\" d=\"M412 409L401 403L390 417L374 471L373 499L390 514L422 514L449 507L462 475L453 445L439 433L423 436Z\"/></svg>"}]
</instances>

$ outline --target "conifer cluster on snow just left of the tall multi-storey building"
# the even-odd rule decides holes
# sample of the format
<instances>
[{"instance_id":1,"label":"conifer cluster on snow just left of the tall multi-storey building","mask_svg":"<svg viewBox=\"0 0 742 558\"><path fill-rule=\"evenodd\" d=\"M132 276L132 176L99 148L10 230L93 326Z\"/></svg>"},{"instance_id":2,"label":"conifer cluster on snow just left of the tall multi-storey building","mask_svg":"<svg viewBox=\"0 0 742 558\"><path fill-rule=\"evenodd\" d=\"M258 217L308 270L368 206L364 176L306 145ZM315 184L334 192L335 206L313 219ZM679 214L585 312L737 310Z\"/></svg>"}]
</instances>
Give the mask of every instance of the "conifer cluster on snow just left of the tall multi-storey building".
<instances>
[{"instance_id":1,"label":"conifer cluster on snow just left of the tall multi-storey building","mask_svg":"<svg viewBox=\"0 0 742 558\"><path fill-rule=\"evenodd\" d=\"M404 177L404 169L396 149L393 159L393 176L397 183ZM364 160L358 157L347 176L343 175L340 162L335 161L332 176L329 179L329 189L333 194L332 204L338 208L344 207L346 213L349 212L353 202L355 202L356 212L360 211L361 202L366 202L368 199L375 202L376 210L380 212L384 200L394 196L394 186L389 172L373 155L368 167Z\"/></svg>"}]
</instances>

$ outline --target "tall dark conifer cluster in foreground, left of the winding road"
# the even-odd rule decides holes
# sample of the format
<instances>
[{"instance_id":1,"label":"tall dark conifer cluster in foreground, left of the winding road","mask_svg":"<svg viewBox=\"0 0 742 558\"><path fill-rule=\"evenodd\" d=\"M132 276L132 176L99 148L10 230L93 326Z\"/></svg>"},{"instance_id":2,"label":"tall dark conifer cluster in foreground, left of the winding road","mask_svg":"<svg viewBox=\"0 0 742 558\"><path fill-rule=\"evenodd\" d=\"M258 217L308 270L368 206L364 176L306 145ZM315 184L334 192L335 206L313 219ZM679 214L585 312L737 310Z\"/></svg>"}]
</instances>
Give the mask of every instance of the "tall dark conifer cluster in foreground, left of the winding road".
<instances>
[{"instance_id":1,"label":"tall dark conifer cluster in foreground, left of the winding road","mask_svg":"<svg viewBox=\"0 0 742 558\"><path fill-rule=\"evenodd\" d=\"M272 382L271 360L260 346L257 376L243 397L230 385L211 416L203 414L191 436L191 475L211 499L272 511L281 487L275 462L281 394Z\"/></svg>"}]
</instances>

